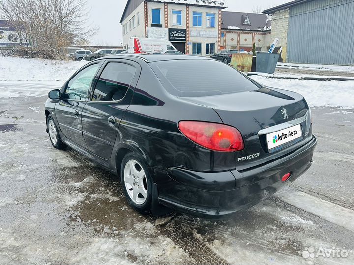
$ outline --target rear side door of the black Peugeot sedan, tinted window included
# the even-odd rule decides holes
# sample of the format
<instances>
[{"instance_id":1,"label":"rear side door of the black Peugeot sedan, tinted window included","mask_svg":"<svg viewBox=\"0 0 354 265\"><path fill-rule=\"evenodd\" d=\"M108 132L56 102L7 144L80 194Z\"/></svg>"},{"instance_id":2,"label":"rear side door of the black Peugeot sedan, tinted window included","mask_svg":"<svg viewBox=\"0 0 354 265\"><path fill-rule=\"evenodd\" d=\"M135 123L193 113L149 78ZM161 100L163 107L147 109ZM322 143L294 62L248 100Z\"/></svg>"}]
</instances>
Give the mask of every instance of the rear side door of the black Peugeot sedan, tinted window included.
<instances>
[{"instance_id":1,"label":"rear side door of the black Peugeot sedan, tinted window included","mask_svg":"<svg viewBox=\"0 0 354 265\"><path fill-rule=\"evenodd\" d=\"M110 159L119 124L128 108L141 67L129 60L107 60L82 112L89 151Z\"/></svg>"}]
</instances>

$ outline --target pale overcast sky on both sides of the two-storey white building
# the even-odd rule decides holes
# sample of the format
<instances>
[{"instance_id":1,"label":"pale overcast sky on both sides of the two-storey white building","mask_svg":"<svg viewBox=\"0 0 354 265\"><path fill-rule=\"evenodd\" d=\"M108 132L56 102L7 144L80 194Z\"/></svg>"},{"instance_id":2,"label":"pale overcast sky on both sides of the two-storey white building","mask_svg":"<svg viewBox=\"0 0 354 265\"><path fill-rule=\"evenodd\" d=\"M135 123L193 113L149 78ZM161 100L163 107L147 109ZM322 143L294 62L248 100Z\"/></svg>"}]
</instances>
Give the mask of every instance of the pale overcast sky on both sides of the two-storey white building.
<instances>
[{"instance_id":1,"label":"pale overcast sky on both sides of the two-storey white building","mask_svg":"<svg viewBox=\"0 0 354 265\"><path fill-rule=\"evenodd\" d=\"M93 45L119 46L122 42L122 28L119 24L127 0L87 0L91 9L91 20L100 29L93 36ZM225 0L225 11L248 12L254 9L265 10L291 0ZM246 4L247 2L247 4Z\"/></svg>"}]
</instances>

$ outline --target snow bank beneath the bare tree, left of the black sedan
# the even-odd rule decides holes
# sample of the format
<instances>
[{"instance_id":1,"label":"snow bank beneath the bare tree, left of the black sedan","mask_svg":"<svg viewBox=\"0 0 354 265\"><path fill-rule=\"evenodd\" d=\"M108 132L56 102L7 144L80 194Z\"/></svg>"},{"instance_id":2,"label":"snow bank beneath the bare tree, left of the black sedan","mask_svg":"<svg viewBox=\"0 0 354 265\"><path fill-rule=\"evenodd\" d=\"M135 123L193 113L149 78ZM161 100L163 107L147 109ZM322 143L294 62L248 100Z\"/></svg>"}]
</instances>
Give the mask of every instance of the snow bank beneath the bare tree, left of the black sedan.
<instances>
[{"instance_id":1,"label":"snow bank beneath the bare tree, left of the black sedan","mask_svg":"<svg viewBox=\"0 0 354 265\"><path fill-rule=\"evenodd\" d=\"M0 57L0 81L66 80L86 63Z\"/></svg>"}]
</instances>

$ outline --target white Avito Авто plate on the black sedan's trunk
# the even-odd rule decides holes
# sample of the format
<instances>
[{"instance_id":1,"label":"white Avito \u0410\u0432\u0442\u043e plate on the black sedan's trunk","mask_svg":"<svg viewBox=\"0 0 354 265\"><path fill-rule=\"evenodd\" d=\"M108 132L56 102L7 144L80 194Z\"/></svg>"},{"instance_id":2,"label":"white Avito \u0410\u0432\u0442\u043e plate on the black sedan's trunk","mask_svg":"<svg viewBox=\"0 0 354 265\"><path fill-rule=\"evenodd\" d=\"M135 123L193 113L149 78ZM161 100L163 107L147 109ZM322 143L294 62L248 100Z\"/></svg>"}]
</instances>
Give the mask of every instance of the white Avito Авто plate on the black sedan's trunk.
<instances>
[{"instance_id":1,"label":"white Avito \u0410\u0432\u0442\u043e plate on the black sedan's trunk","mask_svg":"<svg viewBox=\"0 0 354 265\"><path fill-rule=\"evenodd\" d=\"M302 137L301 125L295 125L266 135L268 149L273 149Z\"/></svg>"}]
</instances>

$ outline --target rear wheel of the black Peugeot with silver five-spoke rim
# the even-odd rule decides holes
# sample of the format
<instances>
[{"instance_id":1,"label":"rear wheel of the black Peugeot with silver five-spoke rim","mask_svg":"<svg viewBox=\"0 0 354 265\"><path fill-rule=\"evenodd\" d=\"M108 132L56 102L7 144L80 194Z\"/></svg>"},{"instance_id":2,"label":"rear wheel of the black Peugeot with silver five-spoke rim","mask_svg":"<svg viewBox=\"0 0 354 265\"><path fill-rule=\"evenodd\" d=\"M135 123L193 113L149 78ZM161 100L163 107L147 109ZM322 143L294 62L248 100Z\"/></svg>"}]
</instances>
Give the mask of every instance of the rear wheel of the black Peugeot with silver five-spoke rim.
<instances>
[{"instance_id":1,"label":"rear wheel of the black Peugeot with silver five-spoke rim","mask_svg":"<svg viewBox=\"0 0 354 265\"><path fill-rule=\"evenodd\" d=\"M120 167L120 178L128 203L138 212L150 213L152 178L145 159L134 152L126 154Z\"/></svg>"}]
</instances>

